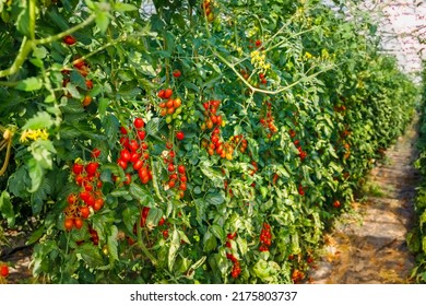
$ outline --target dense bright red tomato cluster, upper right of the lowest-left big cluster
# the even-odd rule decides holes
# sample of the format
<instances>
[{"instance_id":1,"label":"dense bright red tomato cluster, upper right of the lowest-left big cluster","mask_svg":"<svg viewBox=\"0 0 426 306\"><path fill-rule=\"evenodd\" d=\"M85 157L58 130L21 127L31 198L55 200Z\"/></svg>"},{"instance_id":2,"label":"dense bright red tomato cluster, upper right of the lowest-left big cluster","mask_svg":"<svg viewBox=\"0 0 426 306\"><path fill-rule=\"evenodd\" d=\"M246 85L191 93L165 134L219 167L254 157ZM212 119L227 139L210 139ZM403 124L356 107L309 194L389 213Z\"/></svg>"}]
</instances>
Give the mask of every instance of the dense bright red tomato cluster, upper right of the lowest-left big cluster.
<instances>
[{"instance_id":1,"label":"dense bright red tomato cluster, upper right of the lowest-left big cluster","mask_svg":"<svg viewBox=\"0 0 426 306\"><path fill-rule=\"evenodd\" d=\"M137 117L133 120L133 125L128 129L125 127L120 128L120 144L122 149L117 158L117 164L126 173L126 180L123 181L126 185L132 181L133 172L138 173L142 184L147 184L152 180L149 144L144 141L146 138L144 127L145 122L143 119ZM130 164L132 165L131 167L129 167Z\"/></svg>"}]
</instances>

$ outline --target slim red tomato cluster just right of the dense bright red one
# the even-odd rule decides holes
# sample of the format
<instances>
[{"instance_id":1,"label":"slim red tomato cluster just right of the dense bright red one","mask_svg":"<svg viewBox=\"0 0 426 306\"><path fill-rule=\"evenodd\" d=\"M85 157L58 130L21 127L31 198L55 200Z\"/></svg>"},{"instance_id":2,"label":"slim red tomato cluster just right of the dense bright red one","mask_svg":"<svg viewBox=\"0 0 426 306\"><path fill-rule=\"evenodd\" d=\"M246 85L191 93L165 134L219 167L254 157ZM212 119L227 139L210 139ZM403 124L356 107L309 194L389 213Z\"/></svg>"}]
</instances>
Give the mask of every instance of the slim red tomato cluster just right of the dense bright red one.
<instances>
[{"instance_id":1,"label":"slim red tomato cluster just right of the dense bright red one","mask_svg":"<svg viewBox=\"0 0 426 306\"><path fill-rule=\"evenodd\" d=\"M178 133L179 134L179 133ZM181 137L177 136L178 139L182 139ZM185 196L185 190L187 190L187 169L185 165L179 164L176 166L175 158L176 153L173 150L173 144L167 143L166 144L167 151L163 152L163 162L165 165L167 165L167 172L168 172L168 181L166 183L166 189L177 189L176 197L177 199L182 199Z\"/></svg>"}]
</instances>

